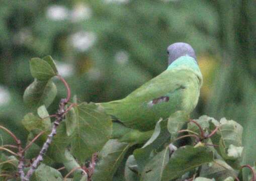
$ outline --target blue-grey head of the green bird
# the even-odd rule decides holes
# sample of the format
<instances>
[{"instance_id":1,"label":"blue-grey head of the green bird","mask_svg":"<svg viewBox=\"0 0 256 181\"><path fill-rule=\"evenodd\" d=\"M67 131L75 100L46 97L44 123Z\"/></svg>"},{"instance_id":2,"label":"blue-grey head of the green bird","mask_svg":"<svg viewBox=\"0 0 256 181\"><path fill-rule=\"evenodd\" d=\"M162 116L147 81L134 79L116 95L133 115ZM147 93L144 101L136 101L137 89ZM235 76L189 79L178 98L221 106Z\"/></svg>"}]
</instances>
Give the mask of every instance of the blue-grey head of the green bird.
<instances>
[{"instance_id":1,"label":"blue-grey head of the green bird","mask_svg":"<svg viewBox=\"0 0 256 181\"><path fill-rule=\"evenodd\" d=\"M177 58L181 56L191 56L197 61L196 53L192 46L188 43L178 42L174 43L167 48L168 53L168 65L173 63Z\"/></svg>"}]
</instances>

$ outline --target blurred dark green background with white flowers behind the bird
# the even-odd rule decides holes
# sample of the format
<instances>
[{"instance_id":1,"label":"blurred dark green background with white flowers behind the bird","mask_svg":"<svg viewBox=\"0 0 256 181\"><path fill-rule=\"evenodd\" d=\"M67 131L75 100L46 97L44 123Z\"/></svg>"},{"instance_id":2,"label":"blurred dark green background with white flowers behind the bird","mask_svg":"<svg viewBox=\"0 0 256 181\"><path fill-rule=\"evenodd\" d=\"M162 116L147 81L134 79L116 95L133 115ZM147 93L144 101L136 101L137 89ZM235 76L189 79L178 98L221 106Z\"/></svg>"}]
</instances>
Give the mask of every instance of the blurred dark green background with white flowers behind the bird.
<instances>
[{"instance_id":1,"label":"blurred dark green background with white flowers behind the bird","mask_svg":"<svg viewBox=\"0 0 256 181\"><path fill-rule=\"evenodd\" d=\"M256 161L254 0L16 0L0 2L0 124L25 140L29 59L51 55L72 95L121 99L167 65L166 48L187 42L204 76L193 118L226 117L244 127L244 162ZM65 88L56 80L54 113ZM2 130L0 130L2 133ZM8 142L5 134L1 140ZM253 159L252 159L253 158Z\"/></svg>"}]
</instances>

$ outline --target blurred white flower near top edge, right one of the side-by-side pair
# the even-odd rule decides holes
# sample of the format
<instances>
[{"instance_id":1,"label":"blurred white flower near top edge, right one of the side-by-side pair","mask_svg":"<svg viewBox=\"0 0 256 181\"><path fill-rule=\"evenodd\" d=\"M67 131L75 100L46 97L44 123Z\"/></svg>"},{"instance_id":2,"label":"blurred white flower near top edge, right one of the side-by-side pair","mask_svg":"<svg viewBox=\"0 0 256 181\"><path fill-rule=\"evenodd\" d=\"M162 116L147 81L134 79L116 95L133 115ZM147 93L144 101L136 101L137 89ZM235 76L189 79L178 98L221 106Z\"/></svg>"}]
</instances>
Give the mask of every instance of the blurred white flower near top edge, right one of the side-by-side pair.
<instances>
[{"instance_id":1,"label":"blurred white flower near top edge, right one of the side-by-side pair","mask_svg":"<svg viewBox=\"0 0 256 181\"><path fill-rule=\"evenodd\" d=\"M82 20L88 20L92 17L91 8L84 6L83 4L79 4L75 6L75 8L70 13L71 21L78 22Z\"/></svg>"}]
</instances>

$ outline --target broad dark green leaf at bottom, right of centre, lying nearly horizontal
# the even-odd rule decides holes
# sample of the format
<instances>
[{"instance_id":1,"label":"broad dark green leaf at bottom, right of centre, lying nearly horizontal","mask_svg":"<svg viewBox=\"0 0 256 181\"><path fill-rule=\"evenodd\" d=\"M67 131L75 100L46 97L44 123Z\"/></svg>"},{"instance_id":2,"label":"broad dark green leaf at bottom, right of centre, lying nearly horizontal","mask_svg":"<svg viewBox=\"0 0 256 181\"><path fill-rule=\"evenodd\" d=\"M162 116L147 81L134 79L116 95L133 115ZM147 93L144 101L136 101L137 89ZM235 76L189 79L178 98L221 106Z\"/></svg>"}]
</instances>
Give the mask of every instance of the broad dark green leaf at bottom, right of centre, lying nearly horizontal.
<instances>
[{"instance_id":1,"label":"broad dark green leaf at bottom, right of centre, lying nearly horizontal","mask_svg":"<svg viewBox=\"0 0 256 181\"><path fill-rule=\"evenodd\" d=\"M170 157L163 170L161 180L171 180L182 176L184 173L213 161L213 152L206 146L184 146L177 149Z\"/></svg>"}]
</instances>

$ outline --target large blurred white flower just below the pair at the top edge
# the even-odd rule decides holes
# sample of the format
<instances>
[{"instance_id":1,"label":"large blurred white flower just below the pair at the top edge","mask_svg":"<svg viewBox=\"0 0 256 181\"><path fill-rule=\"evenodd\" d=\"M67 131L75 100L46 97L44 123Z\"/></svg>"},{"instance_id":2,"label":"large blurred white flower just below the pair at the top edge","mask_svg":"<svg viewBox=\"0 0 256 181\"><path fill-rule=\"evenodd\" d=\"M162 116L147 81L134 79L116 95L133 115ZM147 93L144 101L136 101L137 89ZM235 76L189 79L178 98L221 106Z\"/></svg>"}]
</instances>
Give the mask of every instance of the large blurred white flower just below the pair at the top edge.
<instances>
[{"instance_id":1,"label":"large blurred white flower just below the pair at the top edge","mask_svg":"<svg viewBox=\"0 0 256 181\"><path fill-rule=\"evenodd\" d=\"M71 44L74 48L76 48L78 51L86 51L96 41L96 35L93 32L76 32L70 37Z\"/></svg>"}]
</instances>

